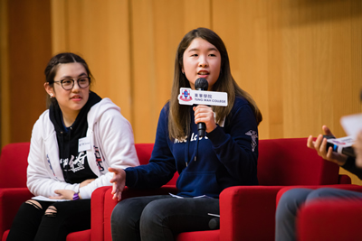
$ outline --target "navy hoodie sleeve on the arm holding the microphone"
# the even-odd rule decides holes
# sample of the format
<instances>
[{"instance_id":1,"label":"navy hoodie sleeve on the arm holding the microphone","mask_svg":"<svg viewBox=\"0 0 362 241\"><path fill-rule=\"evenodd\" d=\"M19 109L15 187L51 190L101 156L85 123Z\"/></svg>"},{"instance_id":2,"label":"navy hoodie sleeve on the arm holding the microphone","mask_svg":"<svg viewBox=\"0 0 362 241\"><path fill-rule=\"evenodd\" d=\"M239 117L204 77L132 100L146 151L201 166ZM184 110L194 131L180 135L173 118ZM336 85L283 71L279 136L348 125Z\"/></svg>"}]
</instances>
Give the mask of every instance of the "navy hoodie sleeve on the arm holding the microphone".
<instances>
[{"instance_id":1,"label":"navy hoodie sleeve on the arm holding the microphone","mask_svg":"<svg viewBox=\"0 0 362 241\"><path fill-rule=\"evenodd\" d=\"M234 110L225 127L216 127L207 137L217 158L235 180L257 184L258 125L249 105Z\"/></svg>"}]
</instances>

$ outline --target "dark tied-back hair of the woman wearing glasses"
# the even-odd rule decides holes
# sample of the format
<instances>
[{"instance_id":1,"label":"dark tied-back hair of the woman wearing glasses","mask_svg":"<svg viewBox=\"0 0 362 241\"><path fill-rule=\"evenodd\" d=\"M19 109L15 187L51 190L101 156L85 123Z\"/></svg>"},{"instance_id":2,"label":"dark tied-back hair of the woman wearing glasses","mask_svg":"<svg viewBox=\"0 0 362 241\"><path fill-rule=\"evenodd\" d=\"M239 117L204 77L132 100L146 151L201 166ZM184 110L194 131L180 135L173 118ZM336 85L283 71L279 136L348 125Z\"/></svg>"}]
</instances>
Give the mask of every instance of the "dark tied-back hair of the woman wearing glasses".
<instances>
[{"instance_id":1,"label":"dark tied-back hair of the woman wearing glasses","mask_svg":"<svg viewBox=\"0 0 362 241\"><path fill-rule=\"evenodd\" d=\"M51 60L49 60L48 65L46 66L44 70L45 74L45 82L49 83L49 86L53 88L54 86L54 77L56 75L56 72L59 68L60 64L63 63L81 63L82 66L84 66L84 69L87 71L88 76L90 77L90 83L91 79L93 79L93 76L90 73L90 68L88 67L88 64L85 60L81 58L81 56L72 53L72 52L62 52L58 53L57 55L53 56ZM55 97L49 97L47 96L46 99L46 106L50 107L52 104L56 104L56 98Z\"/></svg>"}]
</instances>

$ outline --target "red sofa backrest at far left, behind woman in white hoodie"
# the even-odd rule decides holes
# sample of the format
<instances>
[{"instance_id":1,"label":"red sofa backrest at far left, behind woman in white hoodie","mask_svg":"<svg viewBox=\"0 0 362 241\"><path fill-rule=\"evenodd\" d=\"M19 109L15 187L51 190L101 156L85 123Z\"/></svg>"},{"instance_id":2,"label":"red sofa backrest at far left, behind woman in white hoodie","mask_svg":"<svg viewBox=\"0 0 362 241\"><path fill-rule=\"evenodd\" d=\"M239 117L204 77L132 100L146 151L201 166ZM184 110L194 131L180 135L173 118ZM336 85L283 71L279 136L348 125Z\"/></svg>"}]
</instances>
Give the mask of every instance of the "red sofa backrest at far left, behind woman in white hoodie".
<instances>
[{"instance_id":1,"label":"red sofa backrest at far left, behind woman in white hoodie","mask_svg":"<svg viewBox=\"0 0 362 241\"><path fill-rule=\"evenodd\" d=\"M6 144L0 155L0 188L26 188L30 143Z\"/></svg>"}]
</instances>

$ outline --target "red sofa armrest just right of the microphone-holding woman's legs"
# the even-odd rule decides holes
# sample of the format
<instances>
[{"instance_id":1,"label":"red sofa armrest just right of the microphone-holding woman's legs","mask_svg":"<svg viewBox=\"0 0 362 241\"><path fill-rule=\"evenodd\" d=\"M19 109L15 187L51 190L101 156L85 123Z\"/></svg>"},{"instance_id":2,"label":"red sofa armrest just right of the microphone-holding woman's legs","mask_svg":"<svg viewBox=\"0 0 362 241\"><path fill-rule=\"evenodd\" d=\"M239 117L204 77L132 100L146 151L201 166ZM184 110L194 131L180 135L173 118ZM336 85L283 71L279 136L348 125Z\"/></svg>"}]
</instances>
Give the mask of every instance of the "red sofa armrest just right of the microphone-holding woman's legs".
<instances>
[{"instance_id":1,"label":"red sofa armrest just right of the microphone-holding woman's legs","mask_svg":"<svg viewBox=\"0 0 362 241\"><path fill-rule=\"evenodd\" d=\"M283 187L236 186L223 190L220 240L273 240L275 197Z\"/></svg>"}]
</instances>

